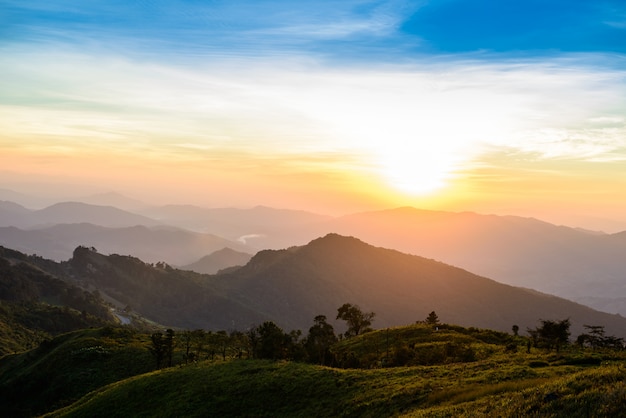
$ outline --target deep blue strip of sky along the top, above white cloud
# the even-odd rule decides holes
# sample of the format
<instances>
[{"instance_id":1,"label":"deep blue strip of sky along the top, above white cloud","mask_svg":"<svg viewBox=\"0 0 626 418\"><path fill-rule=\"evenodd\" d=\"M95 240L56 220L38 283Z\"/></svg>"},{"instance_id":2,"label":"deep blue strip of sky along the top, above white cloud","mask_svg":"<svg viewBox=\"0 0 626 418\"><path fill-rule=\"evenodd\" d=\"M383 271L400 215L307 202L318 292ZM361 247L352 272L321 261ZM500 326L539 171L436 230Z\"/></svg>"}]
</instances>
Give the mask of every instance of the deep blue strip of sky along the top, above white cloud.
<instances>
[{"instance_id":1,"label":"deep blue strip of sky along the top, above white cloud","mask_svg":"<svg viewBox=\"0 0 626 418\"><path fill-rule=\"evenodd\" d=\"M127 53L299 52L376 61L478 51L626 52L626 5L615 0L2 3L5 42L127 46Z\"/></svg>"}]
</instances>

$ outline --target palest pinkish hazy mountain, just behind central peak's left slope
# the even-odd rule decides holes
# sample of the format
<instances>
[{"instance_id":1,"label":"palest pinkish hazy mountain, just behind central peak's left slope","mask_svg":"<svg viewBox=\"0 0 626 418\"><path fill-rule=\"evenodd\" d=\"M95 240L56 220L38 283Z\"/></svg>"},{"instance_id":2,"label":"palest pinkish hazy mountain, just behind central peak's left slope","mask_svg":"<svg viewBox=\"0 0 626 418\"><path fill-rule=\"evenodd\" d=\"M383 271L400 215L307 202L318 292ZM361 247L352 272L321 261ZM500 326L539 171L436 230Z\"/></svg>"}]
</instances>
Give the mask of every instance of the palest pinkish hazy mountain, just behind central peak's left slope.
<instances>
[{"instance_id":1,"label":"palest pinkish hazy mountain, just behind central peak's left slope","mask_svg":"<svg viewBox=\"0 0 626 418\"><path fill-rule=\"evenodd\" d=\"M316 213L256 206L251 209L168 205L141 212L164 224L210 232L257 249L285 248L315 237L316 225L332 219Z\"/></svg>"}]
</instances>

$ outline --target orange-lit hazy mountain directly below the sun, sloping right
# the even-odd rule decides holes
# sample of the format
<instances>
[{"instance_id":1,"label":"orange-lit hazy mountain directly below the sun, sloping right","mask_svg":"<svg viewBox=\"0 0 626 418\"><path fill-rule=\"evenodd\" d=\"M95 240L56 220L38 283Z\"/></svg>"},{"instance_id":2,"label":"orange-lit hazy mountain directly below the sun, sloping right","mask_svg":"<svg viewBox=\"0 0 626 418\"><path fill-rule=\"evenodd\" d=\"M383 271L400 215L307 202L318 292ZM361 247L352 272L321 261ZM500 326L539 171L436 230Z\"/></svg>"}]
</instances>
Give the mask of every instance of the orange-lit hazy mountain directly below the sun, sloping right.
<instances>
[{"instance_id":1,"label":"orange-lit hazy mountain directly below the sun, sloping right","mask_svg":"<svg viewBox=\"0 0 626 418\"><path fill-rule=\"evenodd\" d=\"M626 295L626 233L592 234L533 218L415 208L344 216L324 228L500 282L570 299L592 296L598 309L609 308L606 298Z\"/></svg>"}]
</instances>

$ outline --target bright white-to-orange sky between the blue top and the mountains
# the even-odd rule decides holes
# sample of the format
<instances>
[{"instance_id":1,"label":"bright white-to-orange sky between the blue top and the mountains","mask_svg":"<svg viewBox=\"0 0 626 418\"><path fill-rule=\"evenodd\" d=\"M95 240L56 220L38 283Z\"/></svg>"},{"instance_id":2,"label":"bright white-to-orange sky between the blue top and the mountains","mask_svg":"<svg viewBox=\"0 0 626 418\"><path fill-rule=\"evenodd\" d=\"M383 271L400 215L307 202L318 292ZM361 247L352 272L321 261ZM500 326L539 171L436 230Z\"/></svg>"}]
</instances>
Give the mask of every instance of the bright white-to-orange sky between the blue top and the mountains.
<instances>
[{"instance_id":1,"label":"bright white-to-orange sky between the blue top and the mountains","mask_svg":"<svg viewBox=\"0 0 626 418\"><path fill-rule=\"evenodd\" d=\"M0 104L0 188L330 215L414 206L626 229L621 73L558 60L196 68L14 55L22 67L5 84L19 100Z\"/></svg>"}]
</instances>

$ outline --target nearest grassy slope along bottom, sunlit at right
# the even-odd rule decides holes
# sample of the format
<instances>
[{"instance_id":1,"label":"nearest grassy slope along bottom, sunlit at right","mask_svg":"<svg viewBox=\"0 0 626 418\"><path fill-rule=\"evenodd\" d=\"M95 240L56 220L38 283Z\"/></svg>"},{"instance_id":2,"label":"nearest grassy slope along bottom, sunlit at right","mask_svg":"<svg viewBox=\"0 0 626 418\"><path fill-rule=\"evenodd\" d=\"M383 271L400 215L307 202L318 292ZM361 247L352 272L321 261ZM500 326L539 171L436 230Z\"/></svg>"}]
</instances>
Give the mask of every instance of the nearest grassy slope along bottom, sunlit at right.
<instances>
[{"instance_id":1,"label":"nearest grassy slope along bottom, sunlit at right","mask_svg":"<svg viewBox=\"0 0 626 418\"><path fill-rule=\"evenodd\" d=\"M619 416L624 370L497 354L472 363L333 369L235 360L114 383L48 417Z\"/></svg>"}]
</instances>

